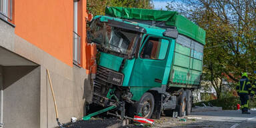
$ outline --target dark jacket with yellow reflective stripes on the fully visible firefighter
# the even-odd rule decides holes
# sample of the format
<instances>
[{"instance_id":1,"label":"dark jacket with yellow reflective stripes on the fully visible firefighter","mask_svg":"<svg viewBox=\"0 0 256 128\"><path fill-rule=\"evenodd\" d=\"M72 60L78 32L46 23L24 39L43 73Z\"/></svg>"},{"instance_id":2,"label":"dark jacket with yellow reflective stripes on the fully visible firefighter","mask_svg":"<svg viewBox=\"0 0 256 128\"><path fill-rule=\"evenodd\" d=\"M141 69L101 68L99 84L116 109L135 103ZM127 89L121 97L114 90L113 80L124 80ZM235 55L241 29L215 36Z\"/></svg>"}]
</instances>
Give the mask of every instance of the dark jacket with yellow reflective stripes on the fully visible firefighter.
<instances>
[{"instance_id":1,"label":"dark jacket with yellow reflective stripes on the fully visible firefighter","mask_svg":"<svg viewBox=\"0 0 256 128\"><path fill-rule=\"evenodd\" d=\"M251 83L247 77L242 77L239 83L237 84L237 93L239 95L245 95L251 93Z\"/></svg>"}]
</instances>

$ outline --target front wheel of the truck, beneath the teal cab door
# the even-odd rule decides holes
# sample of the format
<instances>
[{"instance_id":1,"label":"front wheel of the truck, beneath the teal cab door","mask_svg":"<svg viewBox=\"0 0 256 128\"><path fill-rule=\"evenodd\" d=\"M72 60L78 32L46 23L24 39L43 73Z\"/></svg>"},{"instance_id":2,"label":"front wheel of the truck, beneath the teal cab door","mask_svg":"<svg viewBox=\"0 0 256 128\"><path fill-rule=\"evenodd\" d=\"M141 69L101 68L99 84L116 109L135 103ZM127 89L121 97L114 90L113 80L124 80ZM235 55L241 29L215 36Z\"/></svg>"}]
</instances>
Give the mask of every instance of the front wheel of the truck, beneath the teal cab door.
<instances>
[{"instance_id":1,"label":"front wheel of the truck, beneath the teal cab door","mask_svg":"<svg viewBox=\"0 0 256 128\"><path fill-rule=\"evenodd\" d=\"M150 118L155 105L155 99L151 93L145 93L137 105L137 115L141 113L142 117Z\"/></svg>"}]
</instances>

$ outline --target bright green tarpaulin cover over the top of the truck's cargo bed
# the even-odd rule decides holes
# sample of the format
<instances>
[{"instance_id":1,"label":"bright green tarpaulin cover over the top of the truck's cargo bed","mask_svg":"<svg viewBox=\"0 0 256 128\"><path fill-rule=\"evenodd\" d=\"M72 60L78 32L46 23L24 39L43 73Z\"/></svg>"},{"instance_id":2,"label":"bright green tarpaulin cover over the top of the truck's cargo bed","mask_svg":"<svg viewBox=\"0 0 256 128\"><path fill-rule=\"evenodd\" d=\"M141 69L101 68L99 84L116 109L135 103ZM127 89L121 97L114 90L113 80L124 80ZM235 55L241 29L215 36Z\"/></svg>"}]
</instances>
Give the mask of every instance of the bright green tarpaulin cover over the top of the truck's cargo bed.
<instances>
[{"instance_id":1,"label":"bright green tarpaulin cover over the top of the truck's cargo bed","mask_svg":"<svg viewBox=\"0 0 256 128\"><path fill-rule=\"evenodd\" d=\"M105 14L111 17L120 17L124 19L165 21L165 25L175 26L177 27L177 31L182 35L191 37L192 39L195 39L195 41L205 45L205 30L182 15L179 15L176 11L106 7Z\"/></svg>"}]
</instances>

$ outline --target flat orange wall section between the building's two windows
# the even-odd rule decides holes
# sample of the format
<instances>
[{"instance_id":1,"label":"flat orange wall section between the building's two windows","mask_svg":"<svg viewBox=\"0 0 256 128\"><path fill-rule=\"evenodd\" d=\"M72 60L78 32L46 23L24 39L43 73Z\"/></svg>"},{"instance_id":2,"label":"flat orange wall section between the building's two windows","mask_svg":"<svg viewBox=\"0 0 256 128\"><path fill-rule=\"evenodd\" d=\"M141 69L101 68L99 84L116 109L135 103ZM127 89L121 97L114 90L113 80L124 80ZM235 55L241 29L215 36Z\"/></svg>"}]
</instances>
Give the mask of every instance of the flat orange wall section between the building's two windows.
<instances>
[{"instance_id":1,"label":"flat orange wall section between the building's two windows","mask_svg":"<svg viewBox=\"0 0 256 128\"><path fill-rule=\"evenodd\" d=\"M15 34L73 66L73 0L15 0Z\"/></svg>"}]
</instances>

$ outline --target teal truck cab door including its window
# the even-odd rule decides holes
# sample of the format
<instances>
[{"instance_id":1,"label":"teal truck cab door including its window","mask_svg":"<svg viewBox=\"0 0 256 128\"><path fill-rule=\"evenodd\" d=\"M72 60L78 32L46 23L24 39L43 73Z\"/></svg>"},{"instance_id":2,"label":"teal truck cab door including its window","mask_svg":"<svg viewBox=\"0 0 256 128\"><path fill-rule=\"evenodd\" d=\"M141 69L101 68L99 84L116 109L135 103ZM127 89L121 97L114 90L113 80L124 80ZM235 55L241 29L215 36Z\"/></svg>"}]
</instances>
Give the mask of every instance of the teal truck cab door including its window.
<instances>
[{"instance_id":1,"label":"teal truck cab door including its window","mask_svg":"<svg viewBox=\"0 0 256 128\"><path fill-rule=\"evenodd\" d=\"M130 81L131 86L140 88L136 90L147 90L142 89L143 87L161 87L170 42L169 39L153 36L148 36L143 41Z\"/></svg>"}]
</instances>

